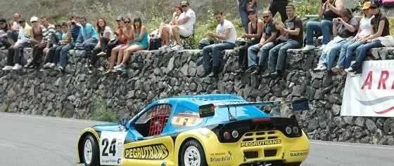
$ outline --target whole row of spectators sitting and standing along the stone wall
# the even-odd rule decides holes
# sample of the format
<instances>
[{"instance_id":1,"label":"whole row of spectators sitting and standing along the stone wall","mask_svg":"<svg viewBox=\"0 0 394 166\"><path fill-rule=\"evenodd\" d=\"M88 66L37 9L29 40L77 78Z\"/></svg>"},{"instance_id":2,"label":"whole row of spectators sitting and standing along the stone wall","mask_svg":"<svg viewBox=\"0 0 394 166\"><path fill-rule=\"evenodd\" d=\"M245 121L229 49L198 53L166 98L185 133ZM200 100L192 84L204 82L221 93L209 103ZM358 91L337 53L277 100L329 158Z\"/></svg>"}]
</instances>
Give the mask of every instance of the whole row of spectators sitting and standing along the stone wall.
<instances>
[{"instance_id":1,"label":"whole row of spectators sitting and standing along the stone wall","mask_svg":"<svg viewBox=\"0 0 394 166\"><path fill-rule=\"evenodd\" d=\"M381 10L379 1L366 1L362 10L364 17L357 20L342 0L322 0L319 5L320 22L307 22L306 28L296 15L295 6L288 0L272 1L269 10L256 10L256 0L237 0L245 33L239 36L247 42L238 52L239 69L235 74L261 74L263 78L277 78L284 74L284 62L288 49L303 48L304 51L317 49L314 37L322 35L322 50L319 63L314 71L329 69L333 73L360 76L364 56L371 48L386 46L389 36L389 22ZM281 22L274 19L281 14ZM260 15L262 18L260 18ZM138 50L148 50L148 29L140 18L115 18L117 27L111 29L106 20L100 18L95 26L84 17L70 16L68 22L52 25L48 18L33 16L30 25L20 14L15 13L11 22L0 18L0 49L8 49L6 67L3 70L29 69L65 70L68 51L85 50L85 67L93 69L98 57L110 57L109 68L101 63L98 68L106 74L125 72L129 56ZM217 28L207 32L203 50L203 74L201 77L215 77L220 72L220 51L236 47L237 34L233 23L215 12ZM40 22L39 22L40 21ZM283 23L282 23L283 22ZM193 35L196 14L188 1L174 6L170 22L162 22L153 33L160 38L158 50L182 50L181 39ZM96 27L96 28L95 28ZM306 36L304 38L304 30ZM203 40L205 40L203 39ZM172 43L171 41L174 41ZM23 48L32 47L33 53L27 62L21 62ZM338 62L335 64L336 55ZM355 63L351 64L352 55ZM44 60L42 61L42 57ZM116 63L115 63L116 62ZM267 72L266 72L267 71Z\"/></svg>"}]
</instances>

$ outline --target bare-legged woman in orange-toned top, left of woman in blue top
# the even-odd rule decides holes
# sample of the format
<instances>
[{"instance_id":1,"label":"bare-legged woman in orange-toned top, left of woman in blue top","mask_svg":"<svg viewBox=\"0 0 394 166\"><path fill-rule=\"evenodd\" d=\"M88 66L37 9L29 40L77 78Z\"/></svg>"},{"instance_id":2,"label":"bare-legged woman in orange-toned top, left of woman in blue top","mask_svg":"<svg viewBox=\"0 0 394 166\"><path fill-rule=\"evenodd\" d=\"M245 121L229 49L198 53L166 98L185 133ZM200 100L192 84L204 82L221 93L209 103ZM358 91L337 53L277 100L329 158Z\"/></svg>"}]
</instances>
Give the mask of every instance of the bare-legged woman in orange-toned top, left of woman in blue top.
<instances>
[{"instance_id":1,"label":"bare-legged woman in orange-toned top, left of woman in blue top","mask_svg":"<svg viewBox=\"0 0 394 166\"><path fill-rule=\"evenodd\" d=\"M123 60L123 52L134 44L134 27L131 23L130 18L125 18L125 27L122 30L122 35L127 40L127 43L113 48L111 52L110 68L106 71L106 74L117 71L116 67L119 66ZM116 67L114 67L115 60L117 60Z\"/></svg>"}]
</instances>

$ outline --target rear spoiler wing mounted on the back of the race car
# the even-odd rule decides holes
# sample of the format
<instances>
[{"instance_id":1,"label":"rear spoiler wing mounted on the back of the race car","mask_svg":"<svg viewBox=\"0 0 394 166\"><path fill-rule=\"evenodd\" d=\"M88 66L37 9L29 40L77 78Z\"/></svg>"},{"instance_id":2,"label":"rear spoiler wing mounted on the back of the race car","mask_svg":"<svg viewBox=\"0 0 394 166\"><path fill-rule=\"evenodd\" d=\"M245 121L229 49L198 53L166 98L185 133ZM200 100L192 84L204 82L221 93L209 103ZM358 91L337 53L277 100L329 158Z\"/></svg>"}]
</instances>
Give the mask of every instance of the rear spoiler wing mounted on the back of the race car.
<instances>
[{"instance_id":1,"label":"rear spoiler wing mounted on the back of the race car","mask_svg":"<svg viewBox=\"0 0 394 166\"><path fill-rule=\"evenodd\" d=\"M271 101L271 102L245 102L236 104L204 104L198 106L198 112L200 118L205 118L209 116L215 116L215 108L227 107L229 111L229 119L235 120L234 116L230 113L230 107L237 106L278 106L281 104L291 104L291 109L293 111L309 110L309 102L307 98L293 99L293 100L283 100L283 101Z\"/></svg>"}]
</instances>

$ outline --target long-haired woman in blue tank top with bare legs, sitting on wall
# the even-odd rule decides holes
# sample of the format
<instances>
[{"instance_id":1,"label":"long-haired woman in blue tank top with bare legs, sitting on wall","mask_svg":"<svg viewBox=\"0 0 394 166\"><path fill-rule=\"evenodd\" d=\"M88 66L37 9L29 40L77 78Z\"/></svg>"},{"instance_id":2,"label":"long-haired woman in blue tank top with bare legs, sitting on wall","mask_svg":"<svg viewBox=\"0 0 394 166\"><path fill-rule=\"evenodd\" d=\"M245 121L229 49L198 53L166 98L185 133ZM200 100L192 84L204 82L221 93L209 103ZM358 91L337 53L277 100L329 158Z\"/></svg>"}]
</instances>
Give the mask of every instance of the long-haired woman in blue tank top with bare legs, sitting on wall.
<instances>
[{"instance_id":1,"label":"long-haired woman in blue tank top with bare legs, sitting on wall","mask_svg":"<svg viewBox=\"0 0 394 166\"><path fill-rule=\"evenodd\" d=\"M125 55L123 55L123 60L122 63L116 68L119 71L125 72L126 71L126 64L127 61L129 60L129 55L132 53L138 51L138 50L146 50L148 49L148 29L146 29L145 26L142 25L141 18L136 18L133 21L133 27L134 27L134 45L129 46L125 50Z\"/></svg>"}]
</instances>

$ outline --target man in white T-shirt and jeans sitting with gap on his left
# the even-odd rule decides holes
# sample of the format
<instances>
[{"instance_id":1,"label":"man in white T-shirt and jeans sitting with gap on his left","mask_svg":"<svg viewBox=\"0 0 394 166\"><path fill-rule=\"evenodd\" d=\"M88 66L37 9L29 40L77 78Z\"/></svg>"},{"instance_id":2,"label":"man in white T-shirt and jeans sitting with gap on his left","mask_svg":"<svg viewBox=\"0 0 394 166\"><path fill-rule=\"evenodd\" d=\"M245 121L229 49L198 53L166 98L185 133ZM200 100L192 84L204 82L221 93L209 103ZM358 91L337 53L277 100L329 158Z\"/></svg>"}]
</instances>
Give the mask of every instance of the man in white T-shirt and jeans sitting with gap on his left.
<instances>
[{"instance_id":1,"label":"man in white T-shirt and jeans sitting with gap on his left","mask_svg":"<svg viewBox=\"0 0 394 166\"><path fill-rule=\"evenodd\" d=\"M222 12L215 13L215 19L219 22L216 27L216 34L212 32L207 33L207 37L213 39L215 44L205 46L203 48L203 69L204 72L201 77L209 76L215 77L219 71L220 66L220 51L226 49L233 49L236 41L236 31L233 23L225 20ZM212 54L212 56L211 56ZM212 59L212 68L210 67L210 60ZM212 73L211 72L212 69Z\"/></svg>"}]
</instances>

